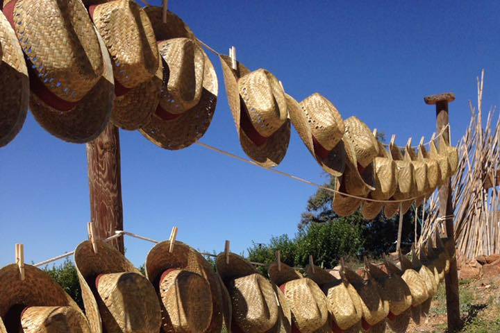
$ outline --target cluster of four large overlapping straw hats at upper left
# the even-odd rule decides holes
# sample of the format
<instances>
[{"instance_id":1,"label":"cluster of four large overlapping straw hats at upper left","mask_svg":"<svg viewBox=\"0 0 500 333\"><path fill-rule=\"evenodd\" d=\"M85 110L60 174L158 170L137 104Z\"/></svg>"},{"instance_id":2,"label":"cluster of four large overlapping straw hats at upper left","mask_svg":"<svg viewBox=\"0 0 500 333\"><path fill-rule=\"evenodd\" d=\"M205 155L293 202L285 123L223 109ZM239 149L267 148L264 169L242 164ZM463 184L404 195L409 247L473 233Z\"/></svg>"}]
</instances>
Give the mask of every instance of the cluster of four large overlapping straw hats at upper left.
<instances>
[{"instance_id":1,"label":"cluster of four large overlapping straw hats at upper left","mask_svg":"<svg viewBox=\"0 0 500 333\"><path fill-rule=\"evenodd\" d=\"M97 137L108 121L180 149L210 125L215 69L172 12L133 0L5 0L0 13L0 146L29 108L67 142ZM29 101L29 102L28 102Z\"/></svg>"}]
</instances>

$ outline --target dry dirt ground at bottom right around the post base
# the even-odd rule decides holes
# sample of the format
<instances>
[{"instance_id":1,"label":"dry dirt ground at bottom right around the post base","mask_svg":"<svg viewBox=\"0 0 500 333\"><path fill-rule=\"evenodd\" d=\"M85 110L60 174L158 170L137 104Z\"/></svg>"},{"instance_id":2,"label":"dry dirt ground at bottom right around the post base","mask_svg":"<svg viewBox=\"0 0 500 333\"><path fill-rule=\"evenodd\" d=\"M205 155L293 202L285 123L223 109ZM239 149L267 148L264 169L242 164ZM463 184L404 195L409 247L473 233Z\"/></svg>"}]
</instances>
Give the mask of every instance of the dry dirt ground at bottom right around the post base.
<instances>
[{"instance_id":1,"label":"dry dirt ground at bottom right around the post base","mask_svg":"<svg viewBox=\"0 0 500 333\"><path fill-rule=\"evenodd\" d=\"M500 276L460 281L460 314L464 327L459 332L500 333ZM428 318L417 326L410 323L407 332L447 332L444 284L433 299Z\"/></svg>"}]
</instances>

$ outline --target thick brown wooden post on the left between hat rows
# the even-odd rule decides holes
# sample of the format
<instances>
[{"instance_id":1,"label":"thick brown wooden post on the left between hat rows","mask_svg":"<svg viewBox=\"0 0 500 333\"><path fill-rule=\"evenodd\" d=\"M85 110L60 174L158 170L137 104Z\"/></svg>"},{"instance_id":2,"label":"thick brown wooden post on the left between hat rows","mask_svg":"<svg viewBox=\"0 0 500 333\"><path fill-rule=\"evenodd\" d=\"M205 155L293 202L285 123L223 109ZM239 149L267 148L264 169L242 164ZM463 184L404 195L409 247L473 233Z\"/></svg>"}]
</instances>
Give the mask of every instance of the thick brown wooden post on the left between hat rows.
<instances>
[{"instance_id":1,"label":"thick brown wooden post on the left between hat rows","mask_svg":"<svg viewBox=\"0 0 500 333\"><path fill-rule=\"evenodd\" d=\"M94 237L104 239L123 230L122 175L120 169L119 131L108 123L103 133L87 144L90 187L90 219ZM110 243L124 253L124 239Z\"/></svg>"}]
</instances>

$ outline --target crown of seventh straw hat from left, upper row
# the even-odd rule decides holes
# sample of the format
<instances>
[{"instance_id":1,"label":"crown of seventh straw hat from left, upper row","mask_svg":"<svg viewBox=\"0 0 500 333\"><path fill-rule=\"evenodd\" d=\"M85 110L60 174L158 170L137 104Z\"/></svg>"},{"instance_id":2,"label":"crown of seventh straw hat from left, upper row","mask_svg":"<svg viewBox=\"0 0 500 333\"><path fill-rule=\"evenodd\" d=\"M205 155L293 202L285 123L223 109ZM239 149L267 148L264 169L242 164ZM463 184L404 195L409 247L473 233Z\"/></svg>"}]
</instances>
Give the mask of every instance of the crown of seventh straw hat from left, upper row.
<instances>
[{"instance_id":1,"label":"crown of seventh straw hat from left, upper row","mask_svg":"<svg viewBox=\"0 0 500 333\"><path fill-rule=\"evenodd\" d=\"M362 167L367 167L378 155L378 142L366 123L358 117L344 121L345 133L356 151L356 160Z\"/></svg>"}]
</instances>

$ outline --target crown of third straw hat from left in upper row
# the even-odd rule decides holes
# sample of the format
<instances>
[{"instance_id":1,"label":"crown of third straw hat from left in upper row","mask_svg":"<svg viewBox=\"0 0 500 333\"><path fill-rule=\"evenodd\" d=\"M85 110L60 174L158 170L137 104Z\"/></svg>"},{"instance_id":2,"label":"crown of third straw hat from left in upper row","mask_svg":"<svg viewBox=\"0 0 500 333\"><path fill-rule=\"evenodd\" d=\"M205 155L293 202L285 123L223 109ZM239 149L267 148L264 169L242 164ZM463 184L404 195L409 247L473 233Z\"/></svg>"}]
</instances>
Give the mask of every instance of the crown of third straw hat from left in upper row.
<instances>
[{"instance_id":1,"label":"crown of third straw hat from left in upper row","mask_svg":"<svg viewBox=\"0 0 500 333\"><path fill-rule=\"evenodd\" d=\"M126 88L151 80L158 69L158 49L149 18L132 0L115 0L97 6L97 30L113 60L113 74Z\"/></svg>"}]
</instances>

